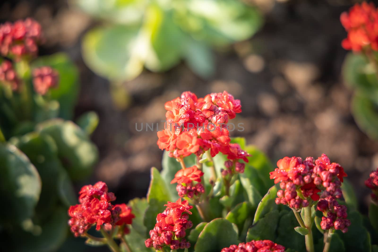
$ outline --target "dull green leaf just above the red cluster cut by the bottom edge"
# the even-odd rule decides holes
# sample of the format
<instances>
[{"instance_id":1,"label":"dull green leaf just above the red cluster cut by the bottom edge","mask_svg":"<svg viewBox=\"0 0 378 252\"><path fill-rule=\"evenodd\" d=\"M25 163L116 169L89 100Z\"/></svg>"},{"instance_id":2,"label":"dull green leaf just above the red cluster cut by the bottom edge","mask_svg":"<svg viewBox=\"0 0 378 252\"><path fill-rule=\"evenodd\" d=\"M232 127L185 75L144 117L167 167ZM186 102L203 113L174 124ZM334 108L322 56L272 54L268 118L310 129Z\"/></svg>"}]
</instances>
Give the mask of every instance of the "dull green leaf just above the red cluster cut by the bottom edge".
<instances>
[{"instance_id":1,"label":"dull green leaf just above the red cluster cut by the bottom edge","mask_svg":"<svg viewBox=\"0 0 378 252\"><path fill-rule=\"evenodd\" d=\"M252 227L248 229L246 241L272 240L276 238L276 229L279 221L278 210L266 213Z\"/></svg>"}]
</instances>

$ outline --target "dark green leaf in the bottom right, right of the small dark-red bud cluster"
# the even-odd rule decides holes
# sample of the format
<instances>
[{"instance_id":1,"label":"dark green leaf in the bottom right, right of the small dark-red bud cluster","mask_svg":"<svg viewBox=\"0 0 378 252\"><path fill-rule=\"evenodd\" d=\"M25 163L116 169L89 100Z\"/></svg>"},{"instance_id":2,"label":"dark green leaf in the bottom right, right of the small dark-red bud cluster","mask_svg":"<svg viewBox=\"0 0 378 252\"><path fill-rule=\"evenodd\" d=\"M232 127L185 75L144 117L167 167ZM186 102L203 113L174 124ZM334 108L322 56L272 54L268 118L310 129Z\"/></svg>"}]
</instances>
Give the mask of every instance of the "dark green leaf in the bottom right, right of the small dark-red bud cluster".
<instances>
[{"instance_id":1,"label":"dark green leaf in the bottom right, right of the small dark-red bud cluster","mask_svg":"<svg viewBox=\"0 0 378 252\"><path fill-rule=\"evenodd\" d=\"M348 232L342 233L337 230L341 240L344 241L345 247L348 248L348 251L370 251L370 235L363 226L361 214L356 211L349 212L348 219L351 222Z\"/></svg>"}]
</instances>

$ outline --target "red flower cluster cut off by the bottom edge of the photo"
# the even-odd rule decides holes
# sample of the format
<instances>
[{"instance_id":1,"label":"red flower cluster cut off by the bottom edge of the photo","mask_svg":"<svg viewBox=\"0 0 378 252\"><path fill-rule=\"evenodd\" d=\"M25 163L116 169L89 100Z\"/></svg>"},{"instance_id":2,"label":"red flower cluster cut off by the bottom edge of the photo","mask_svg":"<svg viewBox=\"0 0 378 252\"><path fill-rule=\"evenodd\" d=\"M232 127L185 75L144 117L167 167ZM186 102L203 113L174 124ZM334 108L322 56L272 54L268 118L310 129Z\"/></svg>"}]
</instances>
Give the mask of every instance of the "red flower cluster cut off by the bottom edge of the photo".
<instances>
[{"instance_id":1,"label":"red flower cluster cut off by the bottom edge of the photo","mask_svg":"<svg viewBox=\"0 0 378 252\"><path fill-rule=\"evenodd\" d=\"M285 252L285 247L270 240L249 241L225 247L221 252Z\"/></svg>"}]
</instances>

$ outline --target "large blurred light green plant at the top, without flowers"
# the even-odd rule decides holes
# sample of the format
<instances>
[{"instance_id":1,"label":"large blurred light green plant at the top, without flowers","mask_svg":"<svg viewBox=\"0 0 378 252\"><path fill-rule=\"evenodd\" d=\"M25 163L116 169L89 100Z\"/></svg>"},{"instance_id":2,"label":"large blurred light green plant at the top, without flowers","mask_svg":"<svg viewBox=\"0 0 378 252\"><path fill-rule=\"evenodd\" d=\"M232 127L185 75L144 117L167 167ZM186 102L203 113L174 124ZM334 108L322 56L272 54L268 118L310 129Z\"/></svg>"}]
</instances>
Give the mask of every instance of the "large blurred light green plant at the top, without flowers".
<instances>
[{"instance_id":1,"label":"large blurred light green plant at the top, without flowers","mask_svg":"<svg viewBox=\"0 0 378 252\"><path fill-rule=\"evenodd\" d=\"M110 21L90 30L82 43L87 65L110 80L133 79L143 65L151 71L166 71L181 59L196 74L209 77L214 72L211 46L248 39L262 26L257 8L237 0L76 3L83 11Z\"/></svg>"}]
</instances>

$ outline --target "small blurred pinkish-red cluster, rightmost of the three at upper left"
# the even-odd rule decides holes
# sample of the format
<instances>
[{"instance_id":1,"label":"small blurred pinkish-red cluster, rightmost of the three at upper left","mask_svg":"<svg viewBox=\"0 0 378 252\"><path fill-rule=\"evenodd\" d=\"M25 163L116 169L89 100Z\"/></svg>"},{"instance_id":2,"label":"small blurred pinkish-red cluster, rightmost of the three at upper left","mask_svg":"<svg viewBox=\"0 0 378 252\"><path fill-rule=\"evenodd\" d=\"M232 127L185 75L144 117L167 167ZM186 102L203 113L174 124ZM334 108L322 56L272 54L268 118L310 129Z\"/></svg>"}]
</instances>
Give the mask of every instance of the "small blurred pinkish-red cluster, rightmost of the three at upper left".
<instances>
[{"instance_id":1,"label":"small blurred pinkish-red cluster, rightmost of the three at upper left","mask_svg":"<svg viewBox=\"0 0 378 252\"><path fill-rule=\"evenodd\" d=\"M57 87L59 74L50 66L42 66L33 70L34 90L44 95L50 88Z\"/></svg>"}]
</instances>

